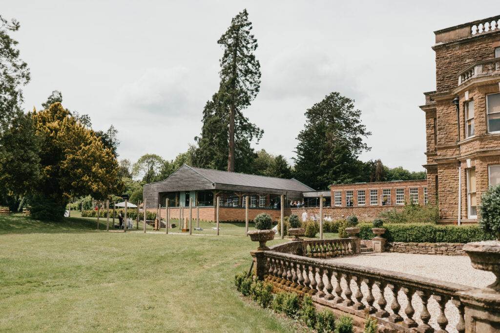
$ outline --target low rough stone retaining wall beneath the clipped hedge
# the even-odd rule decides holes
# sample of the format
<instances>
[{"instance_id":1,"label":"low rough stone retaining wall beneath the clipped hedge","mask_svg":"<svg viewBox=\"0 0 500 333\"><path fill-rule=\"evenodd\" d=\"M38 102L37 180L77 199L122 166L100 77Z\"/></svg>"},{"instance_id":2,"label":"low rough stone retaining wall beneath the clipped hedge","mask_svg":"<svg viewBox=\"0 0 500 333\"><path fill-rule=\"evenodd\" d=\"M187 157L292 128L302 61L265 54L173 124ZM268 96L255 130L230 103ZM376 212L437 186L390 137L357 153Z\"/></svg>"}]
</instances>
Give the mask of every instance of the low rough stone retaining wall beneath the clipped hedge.
<instances>
[{"instance_id":1,"label":"low rough stone retaining wall beneath the clipped hedge","mask_svg":"<svg viewBox=\"0 0 500 333\"><path fill-rule=\"evenodd\" d=\"M385 251L422 255L466 256L461 243L402 243L387 242ZM366 244L366 246L368 246Z\"/></svg>"}]
</instances>

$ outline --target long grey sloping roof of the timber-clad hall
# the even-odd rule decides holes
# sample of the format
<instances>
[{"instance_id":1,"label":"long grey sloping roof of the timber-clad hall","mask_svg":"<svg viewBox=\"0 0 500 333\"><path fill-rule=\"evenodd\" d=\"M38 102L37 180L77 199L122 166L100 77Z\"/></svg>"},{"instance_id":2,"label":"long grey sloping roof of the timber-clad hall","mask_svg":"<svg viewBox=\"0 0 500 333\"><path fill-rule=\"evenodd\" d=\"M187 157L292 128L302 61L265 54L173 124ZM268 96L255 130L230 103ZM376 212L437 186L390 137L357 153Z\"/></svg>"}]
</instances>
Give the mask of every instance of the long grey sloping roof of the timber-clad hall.
<instances>
[{"instance_id":1,"label":"long grey sloping roof of the timber-clad hall","mask_svg":"<svg viewBox=\"0 0 500 333\"><path fill-rule=\"evenodd\" d=\"M314 191L314 189L305 184L302 184L301 182L293 178L282 179L266 176L248 175L237 172L195 168L188 165L186 166L214 184L261 187L297 192Z\"/></svg>"}]
</instances>

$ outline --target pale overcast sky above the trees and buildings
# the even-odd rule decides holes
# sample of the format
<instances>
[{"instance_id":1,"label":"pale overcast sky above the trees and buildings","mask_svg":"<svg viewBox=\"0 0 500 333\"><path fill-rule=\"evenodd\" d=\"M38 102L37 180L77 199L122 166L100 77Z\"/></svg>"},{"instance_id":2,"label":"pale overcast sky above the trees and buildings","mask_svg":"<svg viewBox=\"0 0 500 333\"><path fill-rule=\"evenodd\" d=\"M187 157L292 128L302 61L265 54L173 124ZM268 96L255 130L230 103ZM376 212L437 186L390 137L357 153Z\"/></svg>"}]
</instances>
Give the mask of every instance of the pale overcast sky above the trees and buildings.
<instances>
[{"instance_id":1,"label":"pale overcast sky above the trees and buildings","mask_svg":"<svg viewBox=\"0 0 500 333\"><path fill-rule=\"evenodd\" d=\"M201 130L219 84L217 39L246 8L258 41L260 93L244 111L264 130L256 149L291 162L304 112L326 94L353 98L389 167L423 170L423 92L435 90L432 31L498 14L497 1L22 1L3 0L31 81L24 106L52 90L119 131L119 159L174 159Z\"/></svg>"}]
</instances>

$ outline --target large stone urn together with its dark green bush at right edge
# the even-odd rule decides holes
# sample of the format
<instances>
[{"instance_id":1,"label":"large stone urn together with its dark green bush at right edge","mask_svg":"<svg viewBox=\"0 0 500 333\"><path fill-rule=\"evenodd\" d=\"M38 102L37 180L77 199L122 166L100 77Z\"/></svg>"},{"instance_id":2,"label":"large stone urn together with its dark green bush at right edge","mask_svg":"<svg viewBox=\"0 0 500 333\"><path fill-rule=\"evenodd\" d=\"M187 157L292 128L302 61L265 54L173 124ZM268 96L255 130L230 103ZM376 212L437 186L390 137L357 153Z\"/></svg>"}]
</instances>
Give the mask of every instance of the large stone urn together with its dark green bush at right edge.
<instances>
[{"instance_id":1,"label":"large stone urn together with its dark green bush at right edge","mask_svg":"<svg viewBox=\"0 0 500 333\"><path fill-rule=\"evenodd\" d=\"M496 281L484 288L485 292L500 292L500 184L489 187L481 196L479 209L479 227L487 233L493 233L497 239L467 243L463 251L470 257L472 267L490 271Z\"/></svg>"}]
</instances>

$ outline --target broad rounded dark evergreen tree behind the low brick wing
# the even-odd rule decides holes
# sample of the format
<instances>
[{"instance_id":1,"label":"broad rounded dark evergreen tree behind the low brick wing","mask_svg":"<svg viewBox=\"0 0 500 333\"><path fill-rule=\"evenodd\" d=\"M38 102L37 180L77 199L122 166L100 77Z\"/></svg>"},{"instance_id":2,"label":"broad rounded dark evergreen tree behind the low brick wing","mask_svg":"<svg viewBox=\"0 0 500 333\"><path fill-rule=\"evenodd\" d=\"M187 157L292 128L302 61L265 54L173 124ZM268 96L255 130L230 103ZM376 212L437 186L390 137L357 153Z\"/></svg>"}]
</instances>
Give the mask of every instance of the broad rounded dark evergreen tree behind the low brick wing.
<instances>
[{"instance_id":1,"label":"broad rounded dark evergreen tree behind the low brick wing","mask_svg":"<svg viewBox=\"0 0 500 333\"><path fill-rule=\"evenodd\" d=\"M371 135L359 119L353 100L338 92L326 95L305 112L304 129L297 136L295 177L316 189L350 183L359 178L356 167L362 151L370 148L363 137Z\"/></svg>"}]
</instances>

